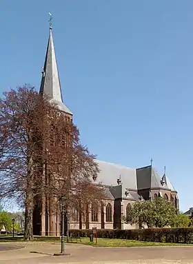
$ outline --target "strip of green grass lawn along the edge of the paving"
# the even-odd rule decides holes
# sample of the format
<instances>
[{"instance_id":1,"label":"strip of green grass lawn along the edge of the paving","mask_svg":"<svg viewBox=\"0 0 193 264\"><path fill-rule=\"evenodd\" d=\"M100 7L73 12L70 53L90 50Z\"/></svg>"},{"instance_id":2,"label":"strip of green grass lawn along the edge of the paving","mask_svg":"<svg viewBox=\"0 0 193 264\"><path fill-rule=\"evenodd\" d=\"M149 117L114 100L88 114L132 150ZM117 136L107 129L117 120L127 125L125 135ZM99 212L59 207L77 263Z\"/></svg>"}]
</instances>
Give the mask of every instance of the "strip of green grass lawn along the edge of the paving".
<instances>
[{"instance_id":1,"label":"strip of green grass lawn along the edge of the paving","mask_svg":"<svg viewBox=\"0 0 193 264\"><path fill-rule=\"evenodd\" d=\"M1 237L1 242L19 242L23 241L21 236L10 238L10 237ZM30 243L61 243L59 238L54 237L46 237L46 236L38 236L35 238L34 241L29 241ZM66 243L65 238L65 243ZM94 247L151 247L151 246L185 246L185 245L192 245L193 244L182 244L182 243L158 243L158 242L145 242L145 241L131 241L127 239L110 239L110 238L97 238L97 243L94 239L93 243L90 243L90 239L85 237L81 238L81 241L73 239L70 243L81 243L83 245L92 245Z\"/></svg>"}]
</instances>

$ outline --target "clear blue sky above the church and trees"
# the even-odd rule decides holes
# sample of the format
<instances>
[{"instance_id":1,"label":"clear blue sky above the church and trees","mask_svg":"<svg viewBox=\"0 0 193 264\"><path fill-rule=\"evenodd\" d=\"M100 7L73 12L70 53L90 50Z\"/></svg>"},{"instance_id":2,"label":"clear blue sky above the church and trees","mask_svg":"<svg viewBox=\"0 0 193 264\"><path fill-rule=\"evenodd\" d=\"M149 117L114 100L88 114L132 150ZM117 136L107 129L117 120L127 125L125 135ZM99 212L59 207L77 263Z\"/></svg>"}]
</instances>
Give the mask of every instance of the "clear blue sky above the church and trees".
<instances>
[{"instance_id":1,"label":"clear blue sky above the church and trees","mask_svg":"<svg viewBox=\"0 0 193 264\"><path fill-rule=\"evenodd\" d=\"M154 160L193 206L193 1L0 0L1 92L39 89L53 14L63 101L99 159Z\"/></svg>"}]
</instances>

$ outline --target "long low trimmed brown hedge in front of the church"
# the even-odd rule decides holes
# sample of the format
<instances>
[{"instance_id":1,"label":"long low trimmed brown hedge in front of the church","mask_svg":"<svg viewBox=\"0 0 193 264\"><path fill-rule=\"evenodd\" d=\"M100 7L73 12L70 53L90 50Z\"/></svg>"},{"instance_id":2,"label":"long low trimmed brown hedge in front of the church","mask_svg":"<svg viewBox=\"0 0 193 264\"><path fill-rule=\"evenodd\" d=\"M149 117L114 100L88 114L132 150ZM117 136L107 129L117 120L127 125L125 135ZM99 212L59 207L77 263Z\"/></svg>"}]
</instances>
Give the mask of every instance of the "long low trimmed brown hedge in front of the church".
<instances>
[{"instance_id":1,"label":"long low trimmed brown hedge in front of the church","mask_svg":"<svg viewBox=\"0 0 193 264\"><path fill-rule=\"evenodd\" d=\"M92 230L70 230L72 236L90 236ZM193 243L193 228L147 228L133 230L97 230L99 238L123 238L137 241Z\"/></svg>"}]
</instances>

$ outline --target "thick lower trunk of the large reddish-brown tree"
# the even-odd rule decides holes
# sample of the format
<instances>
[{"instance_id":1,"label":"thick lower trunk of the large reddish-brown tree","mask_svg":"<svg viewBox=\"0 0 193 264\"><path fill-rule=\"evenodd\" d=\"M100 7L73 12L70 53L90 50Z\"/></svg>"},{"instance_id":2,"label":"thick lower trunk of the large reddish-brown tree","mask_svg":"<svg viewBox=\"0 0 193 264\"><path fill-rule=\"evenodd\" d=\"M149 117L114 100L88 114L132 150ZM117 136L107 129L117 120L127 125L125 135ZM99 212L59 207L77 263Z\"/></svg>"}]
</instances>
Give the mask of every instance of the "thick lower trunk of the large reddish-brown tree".
<instances>
[{"instance_id":1,"label":"thick lower trunk of the large reddish-brown tree","mask_svg":"<svg viewBox=\"0 0 193 264\"><path fill-rule=\"evenodd\" d=\"M26 223L25 223L25 240L32 240L33 237L33 210L34 197L30 191L26 194Z\"/></svg>"}]
</instances>

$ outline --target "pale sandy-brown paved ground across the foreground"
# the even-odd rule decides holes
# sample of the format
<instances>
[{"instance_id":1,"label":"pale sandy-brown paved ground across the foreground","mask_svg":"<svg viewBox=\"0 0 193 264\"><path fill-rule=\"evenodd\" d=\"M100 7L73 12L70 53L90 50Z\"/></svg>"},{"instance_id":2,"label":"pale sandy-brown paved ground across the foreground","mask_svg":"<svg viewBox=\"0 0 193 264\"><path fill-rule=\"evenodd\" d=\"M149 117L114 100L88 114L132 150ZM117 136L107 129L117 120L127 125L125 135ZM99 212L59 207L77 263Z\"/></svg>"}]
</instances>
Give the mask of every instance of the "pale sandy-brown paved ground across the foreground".
<instances>
[{"instance_id":1,"label":"pale sandy-brown paved ground across the foreground","mask_svg":"<svg viewBox=\"0 0 193 264\"><path fill-rule=\"evenodd\" d=\"M12 246L12 243L5 243ZM5 244L0 244L5 245ZM15 243L14 243L15 245ZM193 263L193 247L91 247L66 245L70 256L53 256L60 245L50 243L17 243L19 250L0 252L0 264L125 264L125 263ZM38 253L34 253L38 252Z\"/></svg>"}]
</instances>

